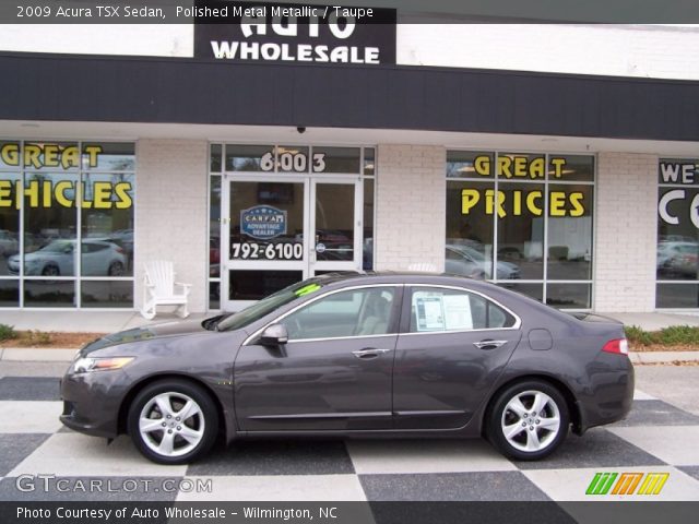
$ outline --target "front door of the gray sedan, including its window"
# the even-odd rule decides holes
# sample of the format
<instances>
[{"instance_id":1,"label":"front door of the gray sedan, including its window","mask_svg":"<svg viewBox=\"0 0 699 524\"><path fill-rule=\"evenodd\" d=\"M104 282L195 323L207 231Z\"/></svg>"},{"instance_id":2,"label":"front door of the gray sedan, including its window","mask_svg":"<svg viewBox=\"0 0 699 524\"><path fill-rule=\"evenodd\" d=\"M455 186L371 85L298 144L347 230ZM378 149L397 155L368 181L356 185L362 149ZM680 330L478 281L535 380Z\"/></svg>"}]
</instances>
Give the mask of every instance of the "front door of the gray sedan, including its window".
<instances>
[{"instance_id":1,"label":"front door of the gray sedan, including its window","mask_svg":"<svg viewBox=\"0 0 699 524\"><path fill-rule=\"evenodd\" d=\"M389 429L401 286L329 291L275 323L288 343L254 338L235 362L244 431Z\"/></svg>"}]
</instances>

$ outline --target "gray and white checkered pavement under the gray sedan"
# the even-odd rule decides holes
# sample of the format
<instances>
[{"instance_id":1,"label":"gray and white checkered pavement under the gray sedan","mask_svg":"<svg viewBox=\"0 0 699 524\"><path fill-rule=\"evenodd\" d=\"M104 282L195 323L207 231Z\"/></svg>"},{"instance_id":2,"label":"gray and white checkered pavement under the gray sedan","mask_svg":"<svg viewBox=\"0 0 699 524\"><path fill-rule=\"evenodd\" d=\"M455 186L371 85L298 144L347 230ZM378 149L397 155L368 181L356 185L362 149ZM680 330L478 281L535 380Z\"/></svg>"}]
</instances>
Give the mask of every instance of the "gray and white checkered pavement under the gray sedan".
<instances>
[{"instance_id":1,"label":"gray and white checkered pavement under the gray sedan","mask_svg":"<svg viewBox=\"0 0 699 524\"><path fill-rule=\"evenodd\" d=\"M628 419L529 463L482 440L272 440L162 466L127 437L63 428L60 412L58 378L0 378L0 500L576 501L597 472L653 472L670 473L653 500L699 501L699 416L642 392Z\"/></svg>"}]
</instances>

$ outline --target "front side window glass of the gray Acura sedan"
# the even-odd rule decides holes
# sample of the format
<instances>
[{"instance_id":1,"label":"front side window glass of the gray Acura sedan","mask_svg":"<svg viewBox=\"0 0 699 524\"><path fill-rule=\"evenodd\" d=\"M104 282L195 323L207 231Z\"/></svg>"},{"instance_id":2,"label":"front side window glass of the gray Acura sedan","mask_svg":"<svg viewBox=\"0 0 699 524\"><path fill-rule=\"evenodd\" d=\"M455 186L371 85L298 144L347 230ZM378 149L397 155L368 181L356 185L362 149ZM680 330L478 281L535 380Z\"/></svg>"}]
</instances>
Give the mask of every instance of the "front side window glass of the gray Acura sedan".
<instances>
[{"instance_id":1,"label":"front side window glass of the gray Acura sedan","mask_svg":"<svg viewBox=\"0 0 699 524\"><path fill-rule=\"evenodd\" d=\"M282 320L289 341L386 335L391 333L394 287L334 293Z\"/></svg>"}]
</instances>

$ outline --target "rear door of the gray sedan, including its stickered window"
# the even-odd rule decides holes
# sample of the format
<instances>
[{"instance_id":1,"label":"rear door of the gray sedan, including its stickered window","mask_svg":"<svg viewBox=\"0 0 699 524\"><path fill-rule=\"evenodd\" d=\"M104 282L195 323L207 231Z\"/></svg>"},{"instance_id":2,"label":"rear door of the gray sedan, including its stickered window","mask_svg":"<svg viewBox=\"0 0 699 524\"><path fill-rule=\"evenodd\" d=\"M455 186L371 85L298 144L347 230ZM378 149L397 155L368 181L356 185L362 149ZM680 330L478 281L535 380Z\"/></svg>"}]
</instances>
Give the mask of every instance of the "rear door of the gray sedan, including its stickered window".
<instances>
[{"instance_id":1,"label":"rear door of the gray sedan, including its stickered window","mask_svg":"<svg viewBox=\"0 0 699 524\"><path fill-rule=\"evenodd\" d=\"M462 288L408 286L393 369L396 429L465 426L519 344L519 319Z\"/></svg>"}]
</instances>

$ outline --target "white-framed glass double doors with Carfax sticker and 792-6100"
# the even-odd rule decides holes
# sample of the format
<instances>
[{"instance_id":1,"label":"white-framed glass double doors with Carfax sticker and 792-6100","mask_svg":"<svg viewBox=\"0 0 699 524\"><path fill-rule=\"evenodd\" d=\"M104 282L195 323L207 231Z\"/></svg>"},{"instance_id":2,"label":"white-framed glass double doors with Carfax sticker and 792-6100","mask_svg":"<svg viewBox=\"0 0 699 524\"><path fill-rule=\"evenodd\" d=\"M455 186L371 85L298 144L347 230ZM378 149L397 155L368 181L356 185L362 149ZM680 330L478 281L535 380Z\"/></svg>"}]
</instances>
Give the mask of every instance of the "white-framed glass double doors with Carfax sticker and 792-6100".
<instances>
[{"instance_id":1,"label":"white-framed glass double doors with Carfax sticker and 792-6100","mask_svg":"<svg viewBox=\"0 0 699 524\"><path fill-rule=\"evenodd\" d=\"M362 189L350 177L224 175L222 310L309 276L362 269Z\"/></svg>"}]
</instances>

